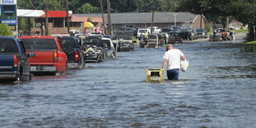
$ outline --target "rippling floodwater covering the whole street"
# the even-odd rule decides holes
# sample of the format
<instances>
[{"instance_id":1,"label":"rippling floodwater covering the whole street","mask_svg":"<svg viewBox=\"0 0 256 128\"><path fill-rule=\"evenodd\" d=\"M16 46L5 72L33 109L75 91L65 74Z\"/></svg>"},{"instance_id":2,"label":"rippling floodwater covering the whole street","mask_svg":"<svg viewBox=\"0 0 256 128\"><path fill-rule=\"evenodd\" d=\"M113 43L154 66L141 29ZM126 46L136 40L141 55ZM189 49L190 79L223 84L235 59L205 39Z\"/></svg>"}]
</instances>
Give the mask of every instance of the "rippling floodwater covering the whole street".
<instances>
[{"instance_id":1,"label":"rippling floodwater covering the whole street","mask_svg":"<svg viewBox=\"0 0 256 128\"><path fill-rule=\"evenodd\" d=\"M145 82L145 69L162 66L162 47L66 76L0 83L0 127L256 127L254 52L232 42L174 47L190 61L177 82Z\"/></svg>"}]
</instances>

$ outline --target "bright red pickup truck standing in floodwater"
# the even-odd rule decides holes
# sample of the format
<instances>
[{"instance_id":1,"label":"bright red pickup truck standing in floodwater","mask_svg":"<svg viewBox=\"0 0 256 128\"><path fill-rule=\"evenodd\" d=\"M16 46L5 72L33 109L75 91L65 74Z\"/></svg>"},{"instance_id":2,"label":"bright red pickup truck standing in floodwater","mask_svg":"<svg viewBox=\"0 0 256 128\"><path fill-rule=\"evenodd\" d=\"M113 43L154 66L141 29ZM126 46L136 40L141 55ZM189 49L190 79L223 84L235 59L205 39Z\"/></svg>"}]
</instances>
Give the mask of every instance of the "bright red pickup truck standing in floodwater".
<instances>
[{"instance_id":1,"label":"bright red pickup truck standing in floodwater","mask_svg":"<svg viewBox=\"0 0 256 128\"><path fill-rule=\"evenodd\" d=\"M36 55L29 58L31 73L60 75L66 72L67 55L54 36L21 36L20 40L27 53L32 52Z\"/></svg>"}]
</instances>

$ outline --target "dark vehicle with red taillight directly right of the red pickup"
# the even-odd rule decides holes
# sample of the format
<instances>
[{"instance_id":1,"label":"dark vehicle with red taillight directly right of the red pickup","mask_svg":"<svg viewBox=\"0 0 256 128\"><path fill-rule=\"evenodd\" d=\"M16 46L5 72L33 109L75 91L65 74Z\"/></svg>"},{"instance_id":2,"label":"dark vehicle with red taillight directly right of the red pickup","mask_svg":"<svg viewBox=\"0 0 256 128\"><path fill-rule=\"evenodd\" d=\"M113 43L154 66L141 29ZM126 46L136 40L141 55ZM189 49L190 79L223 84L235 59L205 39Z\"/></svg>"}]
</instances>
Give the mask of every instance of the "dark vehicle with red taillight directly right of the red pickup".
<instances>
[{"instance_id":1,"label":"dark vehicle with red taillight directly right of the red pickup","mask_svg":"<svg viewBox=\"0 0 256 128\"><path fill-rule=\"evenodd\" d=\"M73 36L58 36L60 45L68 57L68 69L83 69L83 50L78 44L78 40Z\"/></svg>"}]
</instances>

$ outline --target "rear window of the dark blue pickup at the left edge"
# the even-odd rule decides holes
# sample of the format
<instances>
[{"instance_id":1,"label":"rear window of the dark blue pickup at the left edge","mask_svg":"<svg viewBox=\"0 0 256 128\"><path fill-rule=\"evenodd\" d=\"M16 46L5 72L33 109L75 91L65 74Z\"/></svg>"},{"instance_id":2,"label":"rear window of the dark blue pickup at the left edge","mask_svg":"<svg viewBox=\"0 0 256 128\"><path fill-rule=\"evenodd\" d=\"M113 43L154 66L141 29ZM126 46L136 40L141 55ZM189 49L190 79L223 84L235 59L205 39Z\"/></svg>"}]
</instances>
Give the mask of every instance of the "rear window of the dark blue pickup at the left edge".
<instances>
[{"instance_id":1,"label":"rear window of the dark blue pickup at the left edge","mask_svg":"<svg viewBox=\"0 0 256 128\"><path fill-rule=\"evenodd\" d=\"M0 39L0 53L19 53L19 50L14 40Z\"/></svg>"}]
</instances>

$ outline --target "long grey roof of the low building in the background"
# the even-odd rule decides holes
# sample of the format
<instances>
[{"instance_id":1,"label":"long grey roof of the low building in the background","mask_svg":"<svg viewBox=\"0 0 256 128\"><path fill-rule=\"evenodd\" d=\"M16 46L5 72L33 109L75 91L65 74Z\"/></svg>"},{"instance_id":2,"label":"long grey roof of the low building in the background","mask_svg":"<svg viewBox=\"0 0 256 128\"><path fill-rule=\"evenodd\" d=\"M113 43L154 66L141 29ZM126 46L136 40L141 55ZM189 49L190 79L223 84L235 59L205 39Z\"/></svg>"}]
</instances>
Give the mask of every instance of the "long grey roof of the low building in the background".
<instances>
[{"instance_id":1,"label":"long grey roof of the low building in the background","mask_svg":"<svg viewBox=\"0 0 256 128\"><path fill-rule=\"evenodd\" d=\"M174 14L177 15L177 22L192 22L197 15L189 12L154 12L154 23L174 22ZM102 17L98 14L73 14L74 17ZM105 22L107 23L107 13L104 14ZM151 23L152 13L111 13L112 24L129 24L129 23Z\"/></svg>"}]
</instances>

